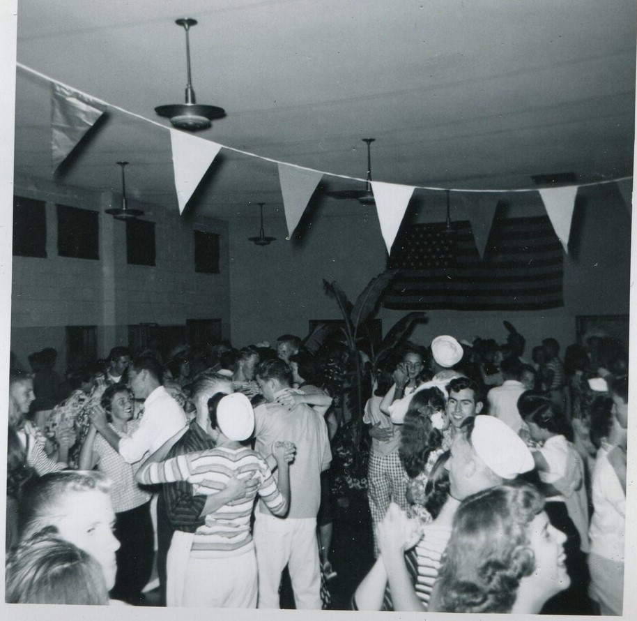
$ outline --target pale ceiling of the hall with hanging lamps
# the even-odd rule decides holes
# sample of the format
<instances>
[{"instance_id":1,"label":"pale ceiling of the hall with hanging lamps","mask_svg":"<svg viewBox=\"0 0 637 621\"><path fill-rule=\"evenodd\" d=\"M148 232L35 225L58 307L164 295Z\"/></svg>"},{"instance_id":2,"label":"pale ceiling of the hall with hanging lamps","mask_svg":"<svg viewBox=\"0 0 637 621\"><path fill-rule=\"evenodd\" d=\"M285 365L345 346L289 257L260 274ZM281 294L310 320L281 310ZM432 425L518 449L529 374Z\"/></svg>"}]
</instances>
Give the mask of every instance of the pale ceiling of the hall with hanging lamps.
<instances>
[{"instance_id":1,"label":"pale ceiling of the hall with hanging lamps","mask_svg":"<svg viewBox=\"0 0 637 621\"><path fill-rule=\"evenodd\" d=\"M194 17L197 102L227 111L201 138L364 178L375 137L373 177L397 184L584 184L632 174L636 13L634 0L20 0L17 61L168 127L154 108L186 84L174 20ZM50 118L49 84L18 70L17 174L52 179ZM124 159L129 197L176 209L164 128L112 111L76 151L58 182L117 192ZM222 150L194 202L219 218L280 206L277 167Z\"/></svg>"}]
</instances>

